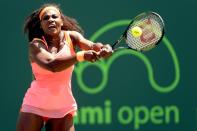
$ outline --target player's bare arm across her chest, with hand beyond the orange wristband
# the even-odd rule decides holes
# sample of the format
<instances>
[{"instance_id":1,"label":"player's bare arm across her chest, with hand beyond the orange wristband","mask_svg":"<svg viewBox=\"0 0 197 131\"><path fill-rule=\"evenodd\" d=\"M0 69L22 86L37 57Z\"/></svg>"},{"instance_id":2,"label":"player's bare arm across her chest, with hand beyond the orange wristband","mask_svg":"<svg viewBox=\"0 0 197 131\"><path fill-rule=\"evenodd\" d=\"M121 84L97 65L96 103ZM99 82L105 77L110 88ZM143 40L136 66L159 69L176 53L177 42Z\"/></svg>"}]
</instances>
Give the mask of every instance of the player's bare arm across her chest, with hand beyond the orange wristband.
<instances>
[{"instance_id":1,"label":"player's bare arm across her chest, with hand beyond the orange wristband","mask_svg":"<svg viewBox=\"0 0 197 131\"><path fill-rule=\"evenodd\" d=\"M33 41L29 44L30 59L41 67L52 71L62 71L78 62L77 54L61 57L47 51L42 41ZM85 51L84 60L94 62L97 54L94 51Z\"/></svg>"}]
</instances>

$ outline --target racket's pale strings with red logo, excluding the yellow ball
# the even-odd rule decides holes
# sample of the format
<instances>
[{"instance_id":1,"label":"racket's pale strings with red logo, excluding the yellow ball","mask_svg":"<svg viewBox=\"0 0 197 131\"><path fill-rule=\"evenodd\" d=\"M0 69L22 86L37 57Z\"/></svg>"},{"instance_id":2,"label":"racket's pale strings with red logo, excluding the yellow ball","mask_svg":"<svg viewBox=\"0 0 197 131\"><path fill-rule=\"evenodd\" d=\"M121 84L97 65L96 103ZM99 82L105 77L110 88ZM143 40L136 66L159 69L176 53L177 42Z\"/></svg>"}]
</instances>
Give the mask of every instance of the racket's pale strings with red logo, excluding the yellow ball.
<instances>
[{"instance_id":1,"label":"racket's pale strings with red logo, excluding the yellow ball","mask_svg":"<svg viewBox=\"0 0 197 131\"><path fill-rule=\"evenodd\" d=\"M131 32L134 27L140 27L142 34L138 37ZM153 48L163 34L163 21L157 15L150 14L135 20L126 34L126 43L133 49L146 51Z\"/></svg>"}]
</instances>

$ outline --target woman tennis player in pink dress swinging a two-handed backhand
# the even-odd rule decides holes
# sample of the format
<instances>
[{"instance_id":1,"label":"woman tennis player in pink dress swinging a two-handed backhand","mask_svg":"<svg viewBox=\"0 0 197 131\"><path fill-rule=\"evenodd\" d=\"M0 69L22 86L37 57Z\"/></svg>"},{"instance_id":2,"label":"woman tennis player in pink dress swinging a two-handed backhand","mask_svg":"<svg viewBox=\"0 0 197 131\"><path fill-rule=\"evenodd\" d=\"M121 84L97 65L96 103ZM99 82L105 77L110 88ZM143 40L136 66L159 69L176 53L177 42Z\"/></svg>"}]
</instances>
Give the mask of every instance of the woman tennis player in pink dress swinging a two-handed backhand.
<instances>
[{"instance_id":1,"label":"woman tennis player in pink dress swinging a two-handed backhand","mask_svg":"<svg viewBox=\"0 0 197 131\"><path fill-rule=\"evenodd\" d=\"M20 109L17 131L74 131L77 104L72 94L74 64L95 62L112 54L109 45L82 36L77 21L54 4L43 5L25 20L29 57L35 79ZM76 52L76 47L81 49ZM78 49L78 50L79 50Z\"/></svg>"}]
</instances>

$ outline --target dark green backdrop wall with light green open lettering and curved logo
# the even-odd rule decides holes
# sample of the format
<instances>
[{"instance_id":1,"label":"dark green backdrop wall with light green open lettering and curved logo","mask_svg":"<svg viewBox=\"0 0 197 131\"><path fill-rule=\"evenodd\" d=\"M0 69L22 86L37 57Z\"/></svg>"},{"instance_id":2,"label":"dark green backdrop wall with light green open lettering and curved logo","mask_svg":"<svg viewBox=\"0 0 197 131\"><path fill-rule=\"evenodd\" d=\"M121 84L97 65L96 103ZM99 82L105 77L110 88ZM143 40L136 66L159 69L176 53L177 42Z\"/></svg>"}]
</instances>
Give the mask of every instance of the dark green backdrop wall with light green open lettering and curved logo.
<instances>
[{"instance_id":1,"label":"dark green backdrop wall with light green open lettering and curved logo","mask_svg":"<svg viewBox=\"0 0 197 131\"><path fill-rule=\"evenodd\" d=\"M31 82L24 19L47 2L60 4L66 15L76 18L86 38L93 38L107 24L130 20L147 10L158 12L166 25L164 39L150 52L121 51L97 64L76 65L72 84L79 106L77 131L197 130L197 1L8 0L0 2L1 131L15 130ZM95 40L113 43L124 29L125 24L115 26Z\"/></svg>"}]
</instances>

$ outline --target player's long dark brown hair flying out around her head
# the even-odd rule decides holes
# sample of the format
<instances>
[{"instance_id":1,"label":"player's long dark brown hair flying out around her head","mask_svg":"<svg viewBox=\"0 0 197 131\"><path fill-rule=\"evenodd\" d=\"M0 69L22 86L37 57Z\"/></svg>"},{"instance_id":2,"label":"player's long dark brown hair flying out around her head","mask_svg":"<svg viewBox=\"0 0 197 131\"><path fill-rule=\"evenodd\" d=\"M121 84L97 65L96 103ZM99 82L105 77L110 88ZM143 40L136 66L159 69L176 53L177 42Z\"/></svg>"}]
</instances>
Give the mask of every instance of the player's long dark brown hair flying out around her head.
<instances>
[{"instance_id":1,"label":"player's long dark brown hair flying out around her head","mask_svg":"<svg viewBox=\"0 0 197 131\"><path fill-rule=\"evenodd\" d=\"M24 33L28 34L28 40L32 41L34 38L42 38L44 31L40 25L39 13L45 7L52 6L57 8L61 13L61 18L63 21L62 30L77 31L83 34L82 28L79 26L78 22L71 17L64 15L56 4L44 4L39 9L33 11L26 19L24 23Z\"/></svg>"}]
</instances>

